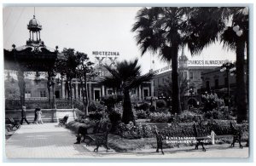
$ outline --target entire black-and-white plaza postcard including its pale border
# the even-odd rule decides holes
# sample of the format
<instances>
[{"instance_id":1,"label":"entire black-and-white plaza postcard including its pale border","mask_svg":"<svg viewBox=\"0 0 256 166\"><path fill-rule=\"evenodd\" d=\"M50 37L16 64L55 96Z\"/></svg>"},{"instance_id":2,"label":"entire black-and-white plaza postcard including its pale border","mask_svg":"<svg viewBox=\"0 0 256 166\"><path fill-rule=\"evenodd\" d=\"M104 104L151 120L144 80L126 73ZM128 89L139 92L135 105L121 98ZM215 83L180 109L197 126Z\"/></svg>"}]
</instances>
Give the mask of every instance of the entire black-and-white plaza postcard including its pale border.
<instances>
[{"instance_id":1,"label":"entire black-and-white plaza postcard including its pale border","mask_svg":"<svg viewBox=\"0 0 256 166\"><path fill-rule=\"evenodd\" d=\"M248 158L251 7L3 5L3 157Z\"/></svg>"}]
</instances>

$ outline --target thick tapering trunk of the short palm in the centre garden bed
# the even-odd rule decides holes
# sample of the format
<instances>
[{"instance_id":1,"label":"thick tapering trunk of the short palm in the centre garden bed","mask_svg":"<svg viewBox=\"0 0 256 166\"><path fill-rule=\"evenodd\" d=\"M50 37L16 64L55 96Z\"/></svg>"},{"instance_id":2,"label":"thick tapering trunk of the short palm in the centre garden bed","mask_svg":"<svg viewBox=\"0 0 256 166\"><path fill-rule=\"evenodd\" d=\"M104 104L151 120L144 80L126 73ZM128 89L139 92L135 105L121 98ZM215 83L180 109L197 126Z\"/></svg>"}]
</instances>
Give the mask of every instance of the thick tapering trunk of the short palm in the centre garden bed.
<instances>
[{"instance_id":1,"label":"thick tapering trunk of the short palm in the centre garden bed","mask_svg":"<svg viewBox=\"0 0 256 166\"><path fill-rule=\"evenodd\" d=\"M123 123L127 124L129 122L135 123L134 115L131 108L131 97L129 94L129 90L125 90L124 94L124 103L123 103Z\"/></svg>"}]
</instances>

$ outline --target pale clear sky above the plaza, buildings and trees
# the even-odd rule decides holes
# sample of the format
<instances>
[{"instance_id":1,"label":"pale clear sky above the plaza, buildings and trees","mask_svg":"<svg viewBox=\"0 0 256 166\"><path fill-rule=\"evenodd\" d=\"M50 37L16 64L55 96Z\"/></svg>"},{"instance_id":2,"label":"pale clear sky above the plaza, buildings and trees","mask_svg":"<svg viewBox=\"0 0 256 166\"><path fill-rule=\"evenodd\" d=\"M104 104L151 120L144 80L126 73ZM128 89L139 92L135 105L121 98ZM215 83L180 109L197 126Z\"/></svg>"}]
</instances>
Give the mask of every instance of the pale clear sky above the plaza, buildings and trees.
<instances>
[{"instance_id":1,"label":"pale clear sky above the plaza, buildings and trees","mask_svg":"<svg viewBox=\"0 0 256 166\"><path fill-rule=\"evenodd\" d=\"M119 60L139 58L142 72L146 73L150 68L157 70L167 63L157 54L141 56L136 33L131 32L139 9L142 7L36 7L35 15L43 26L41 39L47 47L55 49L58 46L60 51L72 48L88 54L92 61L92 51L119 52ZM4 49L12 49L13 43L16 47L26 44L29 38L27 24L33 14L33 7L3 8ZM235 52L223 49L222 43L214 43L193 57L186 48L184 53L189 60L236 60Z\"/></svg>"}]
</instances>

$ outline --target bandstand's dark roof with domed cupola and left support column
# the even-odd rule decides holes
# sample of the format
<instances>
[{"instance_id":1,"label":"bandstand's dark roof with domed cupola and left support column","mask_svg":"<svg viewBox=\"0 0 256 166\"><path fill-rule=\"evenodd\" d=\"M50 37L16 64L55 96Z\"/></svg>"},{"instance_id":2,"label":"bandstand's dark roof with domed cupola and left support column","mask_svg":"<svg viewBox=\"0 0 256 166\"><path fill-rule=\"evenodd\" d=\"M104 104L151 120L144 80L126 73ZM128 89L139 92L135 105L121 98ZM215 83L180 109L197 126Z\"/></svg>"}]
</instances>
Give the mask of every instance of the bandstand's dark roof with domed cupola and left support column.
<instances>
[{"instance_id":1,"label":"bandstand's dark roof with domed cupola and left support column","mask_svg":"<svg viewBox=\"0 0 256 166\"><path fill-rule=\"evenodd\" d=\"M13 49L4 49L4 69L6 71L15 72L18 77L18 85L20 89L20 108L25 105L25 88L24 72L48 72L53 73L55 60L60 55L58 47L49 49L41 41L40 31L42 26L33 15L32 20L27 25L29 30L29 39L26 45L16 47L12 45Z\"/></svg>"}]
</instances>

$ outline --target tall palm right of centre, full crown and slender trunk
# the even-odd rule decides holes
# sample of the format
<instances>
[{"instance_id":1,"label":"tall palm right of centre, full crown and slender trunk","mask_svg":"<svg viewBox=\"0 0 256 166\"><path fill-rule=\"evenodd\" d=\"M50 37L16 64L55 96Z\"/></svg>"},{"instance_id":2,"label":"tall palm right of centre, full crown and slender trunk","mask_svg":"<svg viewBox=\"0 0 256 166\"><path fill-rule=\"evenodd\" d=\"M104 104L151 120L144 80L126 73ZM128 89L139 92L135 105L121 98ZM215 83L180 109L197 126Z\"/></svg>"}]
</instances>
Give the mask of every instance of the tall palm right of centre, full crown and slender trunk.
<instances>
[{"instance_id":1,"label":"tall palm right of centre, full crown and slender trunk","mask_svg":"<svg viewBox=\"0 0 256 166\"><path fill-rule=\"evenodd\" d=\"M172 60L172 111L181 113L177 56L187 34L189 8L143 8L131 31L137 32L137 44L142 54L159 52L162 60Z\"/></svg>"}]
</instances>

